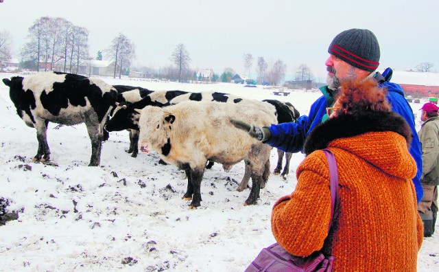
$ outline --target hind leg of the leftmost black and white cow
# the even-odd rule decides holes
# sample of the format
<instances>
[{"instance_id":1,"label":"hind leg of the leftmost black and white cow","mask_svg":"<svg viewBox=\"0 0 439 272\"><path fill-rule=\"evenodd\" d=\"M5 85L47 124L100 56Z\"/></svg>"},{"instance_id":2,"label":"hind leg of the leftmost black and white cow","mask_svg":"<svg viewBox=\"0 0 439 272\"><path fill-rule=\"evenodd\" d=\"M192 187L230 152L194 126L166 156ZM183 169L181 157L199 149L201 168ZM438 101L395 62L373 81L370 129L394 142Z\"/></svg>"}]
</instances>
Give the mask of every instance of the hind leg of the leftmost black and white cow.
<instances>
[{"instance_id":1,"label":"hind leg of the leftmost black and white cow","mask_svg":"<svg viewBox=\"0 0 439 272\"><path fill-rule=\"evenodd\" d=\"M97 116L88 114L85 117L85 124L88 131L88 136L91 141L91 157L88 166L99 166L101 162L101 150L102 150L102 124L96 122Z\"/></svg>"}]
</instances>

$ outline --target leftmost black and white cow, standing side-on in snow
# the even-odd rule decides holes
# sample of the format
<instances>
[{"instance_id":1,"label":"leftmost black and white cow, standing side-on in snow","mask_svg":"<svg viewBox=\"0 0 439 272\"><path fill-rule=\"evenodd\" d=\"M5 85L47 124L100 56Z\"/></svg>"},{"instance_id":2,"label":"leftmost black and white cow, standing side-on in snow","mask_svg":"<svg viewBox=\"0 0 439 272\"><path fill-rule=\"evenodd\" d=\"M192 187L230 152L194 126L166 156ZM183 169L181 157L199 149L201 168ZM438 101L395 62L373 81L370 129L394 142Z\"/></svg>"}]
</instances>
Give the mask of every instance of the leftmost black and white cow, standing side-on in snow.
<instances>
[{"instance_id":1,"label":"leftmost black and white cow, standing side-on in snow","mask_svg":"<svg viewBox=\"0 0 439 272\"><path fill-rule=\"evenodd\" d=\"M99 79L52 71L3 78L3 83L10 88L16 113L36 128L38 151L33 161L50 159L49 122L68 126L84 122L91 139L89 166L99 165L104 124L117 98L115 88Z\"/></svg>"}]
</instances>

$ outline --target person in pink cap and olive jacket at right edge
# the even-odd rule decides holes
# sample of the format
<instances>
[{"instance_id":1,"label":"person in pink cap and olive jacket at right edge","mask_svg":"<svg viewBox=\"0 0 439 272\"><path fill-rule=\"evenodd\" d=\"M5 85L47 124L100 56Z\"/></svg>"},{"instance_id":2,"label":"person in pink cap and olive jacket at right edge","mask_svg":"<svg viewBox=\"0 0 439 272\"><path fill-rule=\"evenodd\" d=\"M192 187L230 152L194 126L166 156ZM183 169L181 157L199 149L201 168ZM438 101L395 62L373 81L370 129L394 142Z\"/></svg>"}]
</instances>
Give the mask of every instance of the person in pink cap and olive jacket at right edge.
<instances>
[{"instance_id":1,"label":"person in pink cap and olive jacket at right edge","mask_svg":"<svg viewBox=\"0 0 439 272\"><path fill-rule=\"evenodd\" d=\"M424 237L430 237L434 234L438 217L439 108L433 103L425 103L421 110L420 120L424 123L418 136L423 150L423 174L420 183L423 185L424 196L418 203L418 212L424 223Z\"/></svg>"}]
</instances>

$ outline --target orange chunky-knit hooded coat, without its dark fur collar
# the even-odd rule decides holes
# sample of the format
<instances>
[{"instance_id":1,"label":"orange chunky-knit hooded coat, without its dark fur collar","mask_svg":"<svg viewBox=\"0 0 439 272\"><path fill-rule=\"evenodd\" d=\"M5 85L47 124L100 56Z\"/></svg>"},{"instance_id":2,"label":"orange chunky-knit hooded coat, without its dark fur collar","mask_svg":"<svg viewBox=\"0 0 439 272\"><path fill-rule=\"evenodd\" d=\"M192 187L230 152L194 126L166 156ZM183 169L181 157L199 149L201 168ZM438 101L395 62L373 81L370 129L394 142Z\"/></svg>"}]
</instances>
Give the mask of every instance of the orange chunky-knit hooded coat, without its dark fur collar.
<instances>
[{"instance_id":1,"label":"orange chunky-knit hooded coat, without its dark fur collar","mask_svg":"<svg viewBox=\"0 0 439 272\"><path fill-rule=\"evenodd\" d=\"M423 225L411 181L416 163L404 137L368 132L328 146L337 161L340 196L329 235L329 166L318 150L298 167L296 190L273 207L278 243L296 256L324 247L335 257L334 271L416 271Z\"/></svg>"}]
</instances>

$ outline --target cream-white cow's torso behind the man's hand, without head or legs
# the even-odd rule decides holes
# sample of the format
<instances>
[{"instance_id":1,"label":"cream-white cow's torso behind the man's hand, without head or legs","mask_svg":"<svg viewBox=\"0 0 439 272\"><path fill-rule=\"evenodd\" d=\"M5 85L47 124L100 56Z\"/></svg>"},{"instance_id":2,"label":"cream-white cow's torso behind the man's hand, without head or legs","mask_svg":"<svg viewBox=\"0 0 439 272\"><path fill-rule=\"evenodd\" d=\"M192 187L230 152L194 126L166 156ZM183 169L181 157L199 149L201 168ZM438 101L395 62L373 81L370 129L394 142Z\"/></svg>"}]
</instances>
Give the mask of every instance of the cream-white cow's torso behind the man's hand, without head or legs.
<instances>
[{"instance_id":1,"label":"cream-white cow's torso behind the man's hand, without head or legs","mask_svg":"<svg viewBox=\"0 0 439 272\"><path fill-rule=\"evenodd\" d=\"M253 104L187 101L163 108L176 115L169 131L175 150L171 150L168 159L178 161L185 157L183 160L190 161L204 155L218 163L241 161L252 146L261 142L235 128L230 119L256 126L277 124L274 107L264 104L254 107Z\"/></svg>"}]
</instances>

